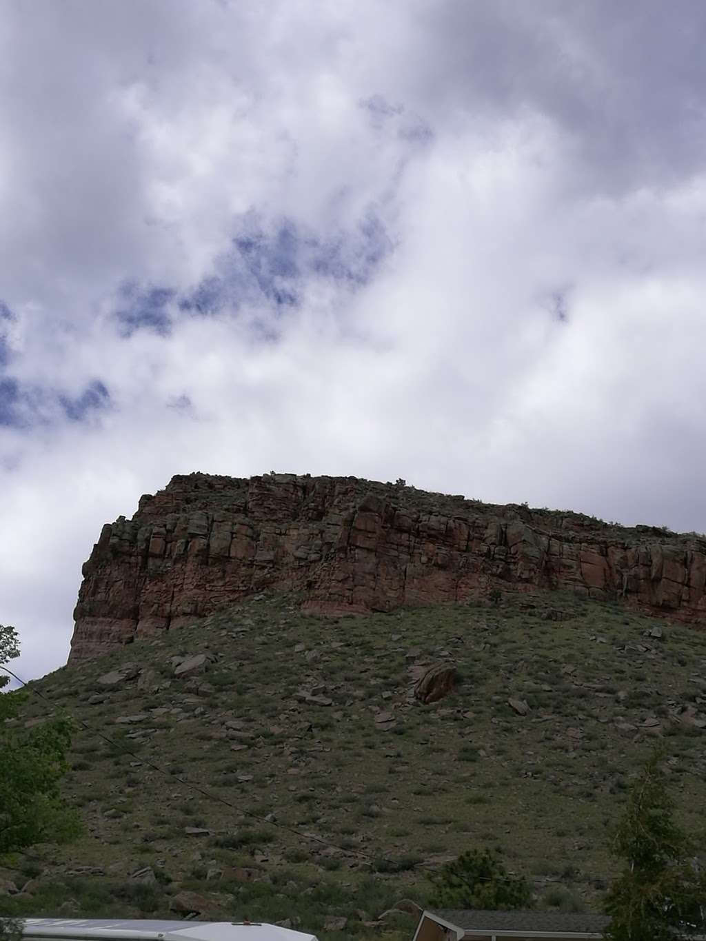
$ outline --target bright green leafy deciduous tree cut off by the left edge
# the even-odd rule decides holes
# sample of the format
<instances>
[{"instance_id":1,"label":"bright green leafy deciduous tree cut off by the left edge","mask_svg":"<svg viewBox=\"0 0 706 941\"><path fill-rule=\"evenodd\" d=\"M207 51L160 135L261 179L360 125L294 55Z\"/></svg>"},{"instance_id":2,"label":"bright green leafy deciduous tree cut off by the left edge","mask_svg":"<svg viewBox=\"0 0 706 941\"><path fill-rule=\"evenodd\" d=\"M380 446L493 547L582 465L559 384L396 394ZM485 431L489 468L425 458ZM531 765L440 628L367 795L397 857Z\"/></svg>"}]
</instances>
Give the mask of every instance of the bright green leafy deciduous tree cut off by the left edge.
<instances>
[{"instance_id":1,"label":"bright green leafy deciduous tree cut off by the left edge","mask_svg":"<svg viewBox=\"0 0 706 941\"><path fill-rule=\"evenodd\" d=\"M0 667L19 653L17 631L0 624ZM8 681L0 670L0 690ZM0 857L34 843L67 839L78 830L75 812L59 793L72 724L54 718L25 728L16 721L25 699L24 693L0 693ZM0 922L0 938L17 931L16 921Z\"/></svg>"}]
</instances>

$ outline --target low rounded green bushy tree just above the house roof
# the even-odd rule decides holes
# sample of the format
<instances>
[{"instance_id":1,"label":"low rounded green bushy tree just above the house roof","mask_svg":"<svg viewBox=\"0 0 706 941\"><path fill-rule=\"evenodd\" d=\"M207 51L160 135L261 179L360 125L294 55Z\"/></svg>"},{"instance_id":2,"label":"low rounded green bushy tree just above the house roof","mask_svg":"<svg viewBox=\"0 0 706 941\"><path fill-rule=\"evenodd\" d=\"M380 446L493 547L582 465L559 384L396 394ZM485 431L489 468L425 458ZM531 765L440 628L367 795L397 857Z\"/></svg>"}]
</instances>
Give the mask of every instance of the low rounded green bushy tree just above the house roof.
<instances>
[{"instance_id":1,"label":"low rounded green bushy tree just above the house roof","mask_svg":"<svg viewBox=\"0 0 706 941\"><path fill-rule=\"evenodd\" d=\"M532 889L526 879L511 876L497 854L470 850L446 863L430 877L432 904L439 908L532 908Z\"/></svg>"}]
</instances>

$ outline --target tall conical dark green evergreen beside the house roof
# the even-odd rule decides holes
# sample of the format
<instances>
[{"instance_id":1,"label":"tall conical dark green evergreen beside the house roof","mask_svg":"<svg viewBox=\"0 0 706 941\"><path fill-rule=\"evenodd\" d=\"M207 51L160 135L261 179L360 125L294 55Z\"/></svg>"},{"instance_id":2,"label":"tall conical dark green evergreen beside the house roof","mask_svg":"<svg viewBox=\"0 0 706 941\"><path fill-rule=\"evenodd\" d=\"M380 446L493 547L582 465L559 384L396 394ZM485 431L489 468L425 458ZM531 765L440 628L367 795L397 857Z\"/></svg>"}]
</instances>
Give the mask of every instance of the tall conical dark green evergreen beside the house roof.
<instances>
[{"instance_id":1,"label":"tall conical dark green evergreen beside the house roof","mask_svg":"<svg viewBox=\"0 0 706 941\"><path fill-rule=\"evenodd\" d=\"M623 870L605 902L611 941L673 941L706 928L706 872L673 820L662 765L657 750L630 789L616 830L613 849Z\"/></svg>"}]
</instances>

